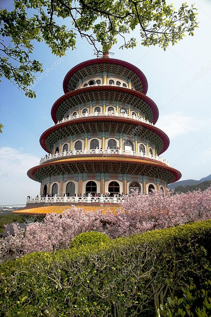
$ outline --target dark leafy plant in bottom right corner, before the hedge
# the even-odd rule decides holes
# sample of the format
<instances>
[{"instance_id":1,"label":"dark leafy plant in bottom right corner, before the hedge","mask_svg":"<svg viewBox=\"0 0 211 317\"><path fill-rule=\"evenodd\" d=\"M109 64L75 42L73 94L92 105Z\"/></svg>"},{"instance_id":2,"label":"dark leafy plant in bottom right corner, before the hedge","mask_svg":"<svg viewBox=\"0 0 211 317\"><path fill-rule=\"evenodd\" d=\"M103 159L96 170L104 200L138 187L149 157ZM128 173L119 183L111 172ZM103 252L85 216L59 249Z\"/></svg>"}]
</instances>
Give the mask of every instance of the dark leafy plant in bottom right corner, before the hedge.
<instances>
[{"instance_id":1,"label":"dark leafy plant in bottom right corner, before the hedge","mask_svg":"<svg viewBox=\"0 0 211 317\"><path fill-rule=\"evenodd\" d=\"M198 289L195 284L191 284L183 289L182 297L171 296L160 313L164 317L209 317L211 315L211 281L205 282L204 289Z\"/></svg>"}]
</instances>

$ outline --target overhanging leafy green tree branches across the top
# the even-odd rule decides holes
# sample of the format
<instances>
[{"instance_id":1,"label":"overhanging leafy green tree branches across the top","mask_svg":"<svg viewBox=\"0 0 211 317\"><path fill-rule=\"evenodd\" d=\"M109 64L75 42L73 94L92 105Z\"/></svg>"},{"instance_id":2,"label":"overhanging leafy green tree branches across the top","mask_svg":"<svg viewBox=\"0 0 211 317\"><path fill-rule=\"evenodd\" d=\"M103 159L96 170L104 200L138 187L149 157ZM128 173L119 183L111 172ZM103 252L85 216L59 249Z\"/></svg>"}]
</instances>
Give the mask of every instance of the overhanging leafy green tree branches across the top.
<instances>
[{"instance_id":1,"label":"overhanging leafy green tree branches across the top","mask_svg":"<svg viewBox=\"0 0 211 317\"><path fill-rule=\"evenodd\" d=\"M99 55L107 52L117 37L121 48L133 48L137 39L129 36L140 29L141 44L163 49L194 35L195 8L183 3L176 11L164 0L14 0L14 10L0 10L0 77L5 76L33 98L34 74L42 65L31 59L34 42L45 41L53 54L62 56L76 48L77 36L85 38ZM129 36L129 37L128 37Z\"/></svg>"}]
</instances>

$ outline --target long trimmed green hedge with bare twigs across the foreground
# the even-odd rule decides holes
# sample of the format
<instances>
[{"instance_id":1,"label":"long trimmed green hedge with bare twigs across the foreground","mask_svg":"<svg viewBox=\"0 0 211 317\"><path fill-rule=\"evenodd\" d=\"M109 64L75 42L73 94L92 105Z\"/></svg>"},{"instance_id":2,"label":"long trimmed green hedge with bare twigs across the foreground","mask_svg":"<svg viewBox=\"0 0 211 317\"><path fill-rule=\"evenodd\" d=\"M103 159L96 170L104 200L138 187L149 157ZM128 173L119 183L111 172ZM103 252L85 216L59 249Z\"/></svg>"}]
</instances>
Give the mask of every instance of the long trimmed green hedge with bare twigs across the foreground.
<instances>
[{"instance_id":1,"label":"long trimmed green hedge with bare twigs across the foreground","mask_svg":"<svg viewBox=\"0 0 211 317\"><path fill-rule=\"evenodd\" d=\"M210 277L211 221L37 252L0 267L1 316L155 316Z\"/></svg>"}]
</instances>

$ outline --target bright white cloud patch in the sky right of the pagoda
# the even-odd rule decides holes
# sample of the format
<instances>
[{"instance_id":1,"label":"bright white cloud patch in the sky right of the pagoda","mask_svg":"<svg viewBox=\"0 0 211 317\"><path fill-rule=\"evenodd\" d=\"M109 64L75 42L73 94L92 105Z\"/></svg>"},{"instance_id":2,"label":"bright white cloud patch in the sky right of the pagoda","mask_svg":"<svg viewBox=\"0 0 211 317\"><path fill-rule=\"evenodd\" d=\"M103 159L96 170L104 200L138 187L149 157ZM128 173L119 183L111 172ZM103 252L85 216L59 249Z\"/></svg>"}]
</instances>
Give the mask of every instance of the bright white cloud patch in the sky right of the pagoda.
<instances>
[{"instance_id":1,"label":"bright white cloud patch in the sky right of the pagoda","mask_svg":"<svg viewBox=\"0 0 211 317\"><path fill-rule=\"evenodd\" d=\"M160 112L159 120L156 124L170 139L187 133L192 133L197 137L197 131L200 131L204 125L205 120L184 115L180 112L173 114Z\"/></svg>"}]
</instances>

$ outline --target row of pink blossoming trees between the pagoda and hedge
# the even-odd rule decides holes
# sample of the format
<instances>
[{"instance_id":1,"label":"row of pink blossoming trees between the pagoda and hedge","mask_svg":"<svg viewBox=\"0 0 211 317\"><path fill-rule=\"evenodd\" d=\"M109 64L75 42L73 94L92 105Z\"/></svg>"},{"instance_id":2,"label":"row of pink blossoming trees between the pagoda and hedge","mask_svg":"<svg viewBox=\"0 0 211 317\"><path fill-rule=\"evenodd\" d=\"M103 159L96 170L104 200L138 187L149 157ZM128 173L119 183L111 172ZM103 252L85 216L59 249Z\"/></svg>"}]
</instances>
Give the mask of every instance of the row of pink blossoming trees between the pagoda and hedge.
<instances>
[{"instance_id":1,"label":"row of pink blossoming trees between the pagoda and hedge","mask_svg":"<svg viewBox=\"0 0 211 317\"><path fill-rule=\"evenodd\" d=\"M47 214L43 222L29 223L25 231L14 225L14 236L0 239L0 260L68 248L75 236L89 231L116 238L207 219L211 219L211 188L176 195L167 191L166 196L158 191L150 195L134 191L125 197L117 214L72 206L62 214Z\"/></svg>"}]
</instances>

